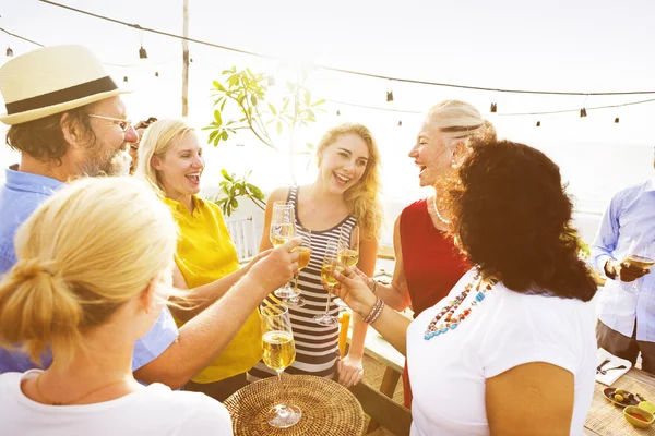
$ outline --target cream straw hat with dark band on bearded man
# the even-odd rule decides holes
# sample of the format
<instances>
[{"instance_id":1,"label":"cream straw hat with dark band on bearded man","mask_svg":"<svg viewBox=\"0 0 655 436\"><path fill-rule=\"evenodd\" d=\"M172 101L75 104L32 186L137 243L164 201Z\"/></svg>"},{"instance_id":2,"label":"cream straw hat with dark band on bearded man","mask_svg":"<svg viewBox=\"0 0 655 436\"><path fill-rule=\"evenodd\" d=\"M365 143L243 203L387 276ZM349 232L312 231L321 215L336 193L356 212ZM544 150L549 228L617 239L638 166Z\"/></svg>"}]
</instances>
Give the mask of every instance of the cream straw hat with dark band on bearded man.
<instances>
[{"instance_id":1,"label":"cream straw hat with dark band on bearded man","mask_svg":"<svg viewBox=\"0 0 655 436\"><path fill-rule=\"evenodd\" d=\"M84 46L29 51L0 68L4 124L21 124L66 112L129 90L119 89L100 60Z\"/></svg>"}]
</instances>

